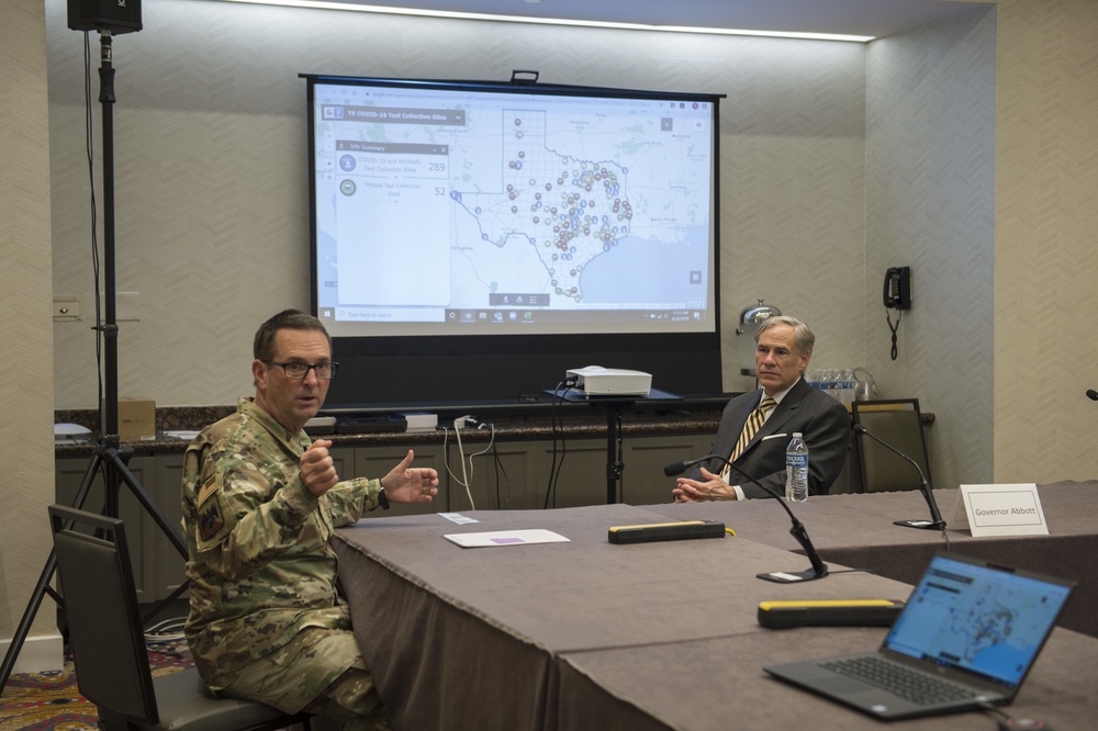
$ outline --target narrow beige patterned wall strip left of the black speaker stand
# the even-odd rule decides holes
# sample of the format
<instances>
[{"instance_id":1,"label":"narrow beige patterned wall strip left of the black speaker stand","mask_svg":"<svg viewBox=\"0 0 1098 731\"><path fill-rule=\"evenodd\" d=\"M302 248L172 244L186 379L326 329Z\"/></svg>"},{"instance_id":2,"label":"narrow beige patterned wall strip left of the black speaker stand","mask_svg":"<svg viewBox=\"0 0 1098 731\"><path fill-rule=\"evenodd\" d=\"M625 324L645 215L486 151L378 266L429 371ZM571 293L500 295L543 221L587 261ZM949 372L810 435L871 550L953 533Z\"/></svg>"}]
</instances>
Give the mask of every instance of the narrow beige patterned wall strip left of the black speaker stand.
<instances>
[{"instance_id":1,"label":"narrow beige patterned wall strip left of the black speaker stand","mask_svg":"<svg viewBox=\"0 0 1098 731\"><path fill-rule=\"evenodd\" d=\"M41 5L4 3L0 24L0 639L10 638L49 555L53 499L49 148ZM19 90L18 95L12 90ZM18 103L14 101L18 99ZM49 600L47 599L47 604ZM36 616L46 630L52 612ZM0 652L7 646L0 643Z\"/></svg>"}]
</instances>

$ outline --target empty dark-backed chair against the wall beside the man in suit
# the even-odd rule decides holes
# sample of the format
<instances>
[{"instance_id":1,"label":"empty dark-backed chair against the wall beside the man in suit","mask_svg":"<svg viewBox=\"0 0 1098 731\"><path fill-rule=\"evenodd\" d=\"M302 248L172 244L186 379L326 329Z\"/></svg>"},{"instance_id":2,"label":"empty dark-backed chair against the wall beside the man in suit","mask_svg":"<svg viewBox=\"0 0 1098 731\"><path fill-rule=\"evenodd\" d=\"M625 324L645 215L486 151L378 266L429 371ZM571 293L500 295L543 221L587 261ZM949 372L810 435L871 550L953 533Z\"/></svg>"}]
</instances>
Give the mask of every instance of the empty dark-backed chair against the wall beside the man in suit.
<instances>
[{"instance_id":1,"label":"empty dark-backed chair against the wall beside the man in suit","mask_svg":"<svg viewBox=\"0 0 1098 731\"><path fill-rule=\"evenodd\" d=\"M854 424L911 458L930 480L930 456L922 430L922 414L918 398L893 401L855 401L851 404ZM863 493L919 490L922 481L916 468L866 436L855 436Z\"/></svg>"}]
</instances>

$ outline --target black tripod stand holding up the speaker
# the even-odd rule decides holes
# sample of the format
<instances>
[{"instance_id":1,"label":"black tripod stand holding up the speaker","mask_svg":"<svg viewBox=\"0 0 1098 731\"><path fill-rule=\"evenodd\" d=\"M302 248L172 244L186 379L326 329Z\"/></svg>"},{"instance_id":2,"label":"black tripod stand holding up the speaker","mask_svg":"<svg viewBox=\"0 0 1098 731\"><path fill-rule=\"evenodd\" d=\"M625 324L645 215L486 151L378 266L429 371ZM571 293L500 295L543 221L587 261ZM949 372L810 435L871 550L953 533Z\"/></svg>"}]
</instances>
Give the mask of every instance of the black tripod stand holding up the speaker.
<instances>
[{"instance_id":1,"label":"black tripod stand holding up the speaker","mask_svg":"<svg viewBox=\"0 0 1098 731\"><path fill-rule=\"evenodd\" d=\"M87 29L76 29L87 30ZM125 29L135 30L135 29ZM85 473L80 490L74 501L74 507L82 508L88 493L91 491L96 475L102 473L104 485L103 515L110 517L119 516L119 493L123 484L130 488L145 510L153 517L160 530L168 537L179 553L187 558L187 544L179 532L168 522L160 509L149 497L145 488L126 466L133 450L119 447L119 326L116 313L116 283L115 283L115 246L114 246L114 67L112 65L111 31L100 30L100 68L99 68L99 101L103 111L103 265L105 285L105 313L104 322L97 323L96 329L99 337L105 342L103 352L103 369L105 376L105 395L100 407L100 438L101 442L96 446L94 454ZM26 605L23 618L19 622L8 654L4 655L3 665L0 666L0 690L8 685L8 678L15 666L15 657L23 648L23 642L30 632L31 623L42 605L42 597L45 594L57 601L58 606L64 606L63 598L49 586L53 581L54 571L57 567L57 559L51 550L46 565L42 570L42 575L34 587L31 600ZM167 603L175 599L186 591L186 582L172 593L171 596L157 604L149 616L157 614ZM148 617L146 617L147 621Z\"/></svg>"}]
</instances>

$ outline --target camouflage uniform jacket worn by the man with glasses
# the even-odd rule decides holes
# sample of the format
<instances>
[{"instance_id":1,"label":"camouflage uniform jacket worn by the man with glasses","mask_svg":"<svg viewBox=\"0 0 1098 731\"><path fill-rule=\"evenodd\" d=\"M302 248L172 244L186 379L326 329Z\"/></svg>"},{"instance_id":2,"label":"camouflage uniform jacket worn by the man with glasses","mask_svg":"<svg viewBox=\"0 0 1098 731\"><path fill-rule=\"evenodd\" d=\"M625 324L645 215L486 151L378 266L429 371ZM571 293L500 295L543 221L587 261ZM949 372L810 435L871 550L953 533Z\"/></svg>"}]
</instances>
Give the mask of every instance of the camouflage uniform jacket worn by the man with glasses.
<instances>
[{"instance_id":1,"label":"camouflage uniform jacket worn by the man with glasses","mask_svg":"<svg viewBox=\"0 0 1098 731\"><path fill-rule=\"evenodd\" d=\"M301 483L310 438L251 401L204 429L183 459L183 536L194 664L213 689L306 627L350 629L336 586L333 530L377 507L378 480L317 498Z\"/></svg>"}]
</instances>

